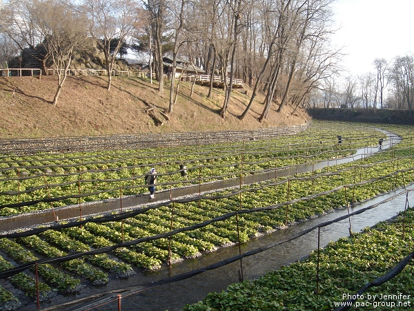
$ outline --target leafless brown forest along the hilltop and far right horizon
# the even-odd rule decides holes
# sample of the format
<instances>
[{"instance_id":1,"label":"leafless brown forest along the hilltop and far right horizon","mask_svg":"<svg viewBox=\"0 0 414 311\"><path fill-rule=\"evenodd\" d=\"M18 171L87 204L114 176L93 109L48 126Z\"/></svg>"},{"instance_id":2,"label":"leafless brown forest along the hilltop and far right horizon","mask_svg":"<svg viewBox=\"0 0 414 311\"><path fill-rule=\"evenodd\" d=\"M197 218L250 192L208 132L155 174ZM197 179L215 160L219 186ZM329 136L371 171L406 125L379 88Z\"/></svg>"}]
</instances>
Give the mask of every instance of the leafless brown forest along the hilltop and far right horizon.
<instances>
[{"instance_id":1,"label":"leafless brown forest along the hilltop and far right horizon","mask_svg":"<svg viewBox=\"0 0 414 311\"><path fill-rule=\"evenodd\" d=\"M43 70L61 71L54 104L74 53L92 46L112 71L116 57L137 56L155 73L164 93L163 57L177 59L206 75L228 77L218 113L225 117L233 79L266 95L259 120L270 106L286 103L310 108L392 108L411 113L412 55L393 62L375 59L373 73L361 77L341 67L341 49L332 46L335 0L7 0L1 3L0 59L5 65L25 53ZM152 75L150 75L152 77ZM110 91L112 76L108 75ZM213 83L210 89L213 88ZM179 80L172 79L168 113L175 109ZM208 96L211 92L208 93Z\"/></svg>"}]
</instances>

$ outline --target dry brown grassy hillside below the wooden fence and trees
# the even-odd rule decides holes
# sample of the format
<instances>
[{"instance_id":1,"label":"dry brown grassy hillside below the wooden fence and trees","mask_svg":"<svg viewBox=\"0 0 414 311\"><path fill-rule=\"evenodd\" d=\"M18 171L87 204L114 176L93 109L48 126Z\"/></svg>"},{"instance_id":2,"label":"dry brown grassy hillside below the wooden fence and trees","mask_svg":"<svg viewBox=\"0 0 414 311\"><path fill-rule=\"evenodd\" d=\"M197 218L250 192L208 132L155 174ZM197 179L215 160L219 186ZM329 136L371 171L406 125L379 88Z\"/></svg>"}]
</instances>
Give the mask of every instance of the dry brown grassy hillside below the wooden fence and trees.
<instances>
[{"instance_id":1,"label":"dry brown grassy hillside below the wooden fence and trees","mask_svg":"<svg viewBox=\"0 0 414 311\"><path fill-rule=\"evenodd\" d=\"M155 105L159 111L168 108L168 82L164 95L159 95L157 84L151 85L144 78L114 77L108 92L106 77L68 77L57 106L53 106L57 77L0 77L0 138L258 129L310 120L303 110L292 115L288 106L276 113L275 105L268 120L260 123L257 117L262 113L264 97L259 95L249 115L239 121L237 115L250 100L244 94L251 94L248 88L233 91L223 120L217 110L223 103L224 91L215 89L213 100L208 100L208 88L196 85L190 97L190 87L189 82L181 82L170 120L157 126L147 114L145 103Z\"/></svg>"}]
</instances>

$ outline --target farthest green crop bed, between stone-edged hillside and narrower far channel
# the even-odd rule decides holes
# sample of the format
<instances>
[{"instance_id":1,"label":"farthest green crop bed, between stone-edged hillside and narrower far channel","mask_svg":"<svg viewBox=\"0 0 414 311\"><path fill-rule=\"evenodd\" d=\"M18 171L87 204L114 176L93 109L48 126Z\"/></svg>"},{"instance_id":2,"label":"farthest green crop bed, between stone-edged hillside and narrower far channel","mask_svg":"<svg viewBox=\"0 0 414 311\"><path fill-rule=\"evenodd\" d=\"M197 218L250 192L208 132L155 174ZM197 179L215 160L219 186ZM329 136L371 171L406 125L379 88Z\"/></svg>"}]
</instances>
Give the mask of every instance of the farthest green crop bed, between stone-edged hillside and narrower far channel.
<instances>
[{"instance_id":1,"label":"farthest green crop bed, between stone-edged hillside and narrower far channel","mask_svg":"<svg viewBox=\"0 0 414 311\"><path fill-rule=\"evenodd\" d=\"M339 130L339 129L336 129ZM197 185L277 167L332 159L377 144L384 134L365 129L314 129L275 140L89 153L39 153L0 158L0 216L144 193L144 176L157 167L161 187ZM179 164L188 169L181 177Z\"/></svg>"}]
</instances>

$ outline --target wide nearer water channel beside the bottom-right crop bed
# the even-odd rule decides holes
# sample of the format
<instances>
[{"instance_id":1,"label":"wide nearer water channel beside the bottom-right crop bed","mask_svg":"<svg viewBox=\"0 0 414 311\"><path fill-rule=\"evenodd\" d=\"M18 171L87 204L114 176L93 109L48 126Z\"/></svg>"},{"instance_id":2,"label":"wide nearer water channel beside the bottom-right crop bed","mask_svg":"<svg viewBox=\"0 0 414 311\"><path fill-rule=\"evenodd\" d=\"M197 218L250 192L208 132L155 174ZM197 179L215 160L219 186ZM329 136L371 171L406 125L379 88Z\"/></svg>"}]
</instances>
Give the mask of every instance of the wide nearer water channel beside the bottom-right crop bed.
<instances>
[{"instance_id":1,"label":"wide nearer water channel beside the bottom-right crop bed","mask_svg":"<svg viewBox=\"0 0 414 311\"><path fill-rule=\"evenodd\" d=\"M407 187L408 190L414 189L414 185ZM377 204L395 196L400 193L402 189L393 191L383 196L373 198L362 204L351 207L350 212L363 209L365 207ZM409 192L408 201L414 199L413 192ZM406 195L403 193L391 201L383 202L374 209L365 211L362 214L351 216L351 227L353 232L360 232L365 227L371 227L376 223L387 220L395 216L399 211L404 210L406 204ZM328 220L333 220L340 216L348 215L346 209L335 211L331 214L326 214L320 218L315 218L306 223L289 227L288 229L279 230L274 234L255 238L249 243L242 245L242 252L247 252L251 249L264 247L282 241L297 232L304 229L311 228ZM321 247L327 245L331 241L337 241L338 238L349 235L349 220L341 220L338 223L333 223L327 227L320 229L320 245ZM253 256L243 258L243 272L244 279L256 279L270 270L275 270L282 265L288 265L294 261L307 256L314 249L317 248L317 230L313 230L305 236L301 236L294 241L286 242L282 245L277 245L265 252L255 254ZM148 281L157 281L168 276L174 276L190 270L195 270L200 267L205 267L212 263L224 260L239 254L237 246L226 247L219 249L212 254L206 254L201 258L190 259L181 263L172 265L170 269L164 267L157 272L146 272L145 274L133 276L130 279L121 282L118 286L131 287L139 283L146 283ZM149 288L132 296L126 296L122 299L122 308L133 306L134 310L180 310L186 303L196 303L204 299L208 292L221 292L225 290L228 284L237 283L239 281L239 261L220 267L217 270L207 271L184 281L178 281L167 285L159 285L154 288ZM113 295L112 295L113 296ZM107 304L93 310L114 310L116 304Z\"/></svg>"}]
</instances>

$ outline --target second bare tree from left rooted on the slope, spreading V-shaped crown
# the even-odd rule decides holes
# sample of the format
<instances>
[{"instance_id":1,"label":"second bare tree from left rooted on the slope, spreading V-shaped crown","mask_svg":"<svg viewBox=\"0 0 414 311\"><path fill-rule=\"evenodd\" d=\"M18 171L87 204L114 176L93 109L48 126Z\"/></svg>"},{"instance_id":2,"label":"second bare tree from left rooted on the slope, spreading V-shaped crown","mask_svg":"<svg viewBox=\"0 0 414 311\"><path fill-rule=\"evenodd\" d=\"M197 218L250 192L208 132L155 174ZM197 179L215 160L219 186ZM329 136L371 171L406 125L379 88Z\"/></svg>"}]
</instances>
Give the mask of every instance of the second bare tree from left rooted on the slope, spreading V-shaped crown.
<instances>
[{"instance_id":1,"label":"second bare tree from left rooted on the slope, spreading V-shaped crown","mask_svg":"<svg viewBox=\"0 0 414 311\"><path fill-rule=\"evenodd\" d=\"M108 70L107 90L110 91L112 70L121 46L132 36L137 18L134 0L82 0L88 16L90 35L97 40L105 55ZM111 43L117 42L116 46Z\"/></svg>"}]
</instances>

